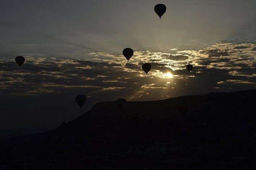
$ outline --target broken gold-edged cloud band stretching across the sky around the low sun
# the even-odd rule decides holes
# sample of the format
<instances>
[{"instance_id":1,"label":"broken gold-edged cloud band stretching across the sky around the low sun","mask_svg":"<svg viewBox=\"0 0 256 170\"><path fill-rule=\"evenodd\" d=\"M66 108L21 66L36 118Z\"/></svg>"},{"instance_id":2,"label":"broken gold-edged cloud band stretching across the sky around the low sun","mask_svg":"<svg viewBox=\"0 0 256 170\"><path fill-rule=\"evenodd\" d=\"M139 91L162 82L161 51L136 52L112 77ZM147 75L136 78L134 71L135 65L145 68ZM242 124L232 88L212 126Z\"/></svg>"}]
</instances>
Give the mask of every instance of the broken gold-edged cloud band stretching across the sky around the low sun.
<instances>
[{"instance_id":1,"label":"broken gold-edged cloud band stretching across the sky around the low sun","mask_svg":"<svg viewBox=\"0 0 256 170\"><path fill-rule=\"evenodd\" d=\"M61 93L62 88L126 91L129 87L148 88L140 83L141 80L149 83L153 82L152 79L160 82L162 79L186 79L192 83L207 76L215 81L214 84L227 80L246 82L248 78L248 82L253 84L255 81L251 79L255 77L256 64L251 48L254 46L252 43L217 43L199 51L177 51L173 54L135 51L129 63L123 56L104 52L94 52L92 61L26 56L21 69L13 60L7 59L0 62L1 94ZM145 62L152 65L151 75L147 77L141 69ZM194 65L191 73L186 70L188 63ZM166 73L172 76L168 77ZM22 85L26 88L18 90Z\"/></svg>"}]
</instances>

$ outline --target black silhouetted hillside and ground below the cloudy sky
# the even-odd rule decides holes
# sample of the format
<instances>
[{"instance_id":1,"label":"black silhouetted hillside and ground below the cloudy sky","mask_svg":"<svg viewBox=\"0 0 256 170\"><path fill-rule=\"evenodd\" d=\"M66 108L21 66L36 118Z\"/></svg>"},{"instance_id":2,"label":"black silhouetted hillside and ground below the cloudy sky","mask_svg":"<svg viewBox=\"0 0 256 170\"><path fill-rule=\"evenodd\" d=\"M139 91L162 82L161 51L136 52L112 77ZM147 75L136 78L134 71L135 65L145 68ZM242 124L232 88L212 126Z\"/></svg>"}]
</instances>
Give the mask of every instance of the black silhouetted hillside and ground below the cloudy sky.
<instances>
[{"instance_id":1,"label":"black silhouetted hillside and ground below the cloudy sky","mask_svg":"<svg viewBox=\"0 0 256 170\"><path fill-rule=\"evenodd\" d=\"M0 140L0 170L254 170L256 90L97 103L46 133Z\"/></svg>"}]
</instances>

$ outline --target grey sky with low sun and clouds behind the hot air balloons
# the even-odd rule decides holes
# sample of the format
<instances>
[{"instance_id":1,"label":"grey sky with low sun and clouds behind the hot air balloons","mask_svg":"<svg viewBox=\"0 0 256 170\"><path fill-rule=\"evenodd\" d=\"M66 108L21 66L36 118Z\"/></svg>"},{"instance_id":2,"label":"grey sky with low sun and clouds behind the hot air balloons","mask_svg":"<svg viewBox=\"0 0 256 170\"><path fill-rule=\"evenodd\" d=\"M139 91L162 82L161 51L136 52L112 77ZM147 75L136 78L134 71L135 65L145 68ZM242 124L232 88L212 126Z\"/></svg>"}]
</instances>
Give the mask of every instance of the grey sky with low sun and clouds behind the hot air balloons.
<instances>
[{"instance_id":1,"label":"grey sky with low sun and clouds behind the hot air balloons","mask_svg":"<svg viewBox=\"0 0 256 170\"><path fill-rule=\"evenodd\" d=\"M157 3L167 7L162 19ZM1 0L0 129L42 132L118 98L254 89L255 6L253 0ZM129 62L122 56L127 47L134 50ZM148 75L141 69L146 62ZM194 66L191 73L186 64ZM78 94L87 96L82 110Z\"/></svg>"}]
</instances>

